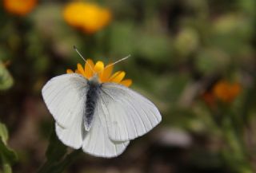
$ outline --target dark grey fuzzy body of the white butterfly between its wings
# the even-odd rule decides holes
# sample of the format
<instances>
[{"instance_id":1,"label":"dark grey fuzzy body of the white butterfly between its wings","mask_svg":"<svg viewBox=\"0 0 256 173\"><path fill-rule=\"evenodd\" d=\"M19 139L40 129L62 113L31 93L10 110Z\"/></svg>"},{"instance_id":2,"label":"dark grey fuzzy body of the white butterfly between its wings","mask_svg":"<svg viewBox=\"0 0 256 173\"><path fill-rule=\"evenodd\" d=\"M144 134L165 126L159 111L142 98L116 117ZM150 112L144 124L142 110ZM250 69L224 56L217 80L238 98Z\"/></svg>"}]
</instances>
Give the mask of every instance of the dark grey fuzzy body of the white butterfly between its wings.
<instances>
[{"instance_id":1,"label":"dark grey fuzzy body of the white butterfly between its wings","mask_svg":"<svg viewBox=\"0 0 256 173\"><path fill-rule=\"evenodd\" d=\"M90 128L91 121L94 116L94 109L98 100L98 89L101 87L99 84L88 81L88 91L86 93L86 113L84 117L85 127Z\"/></svg>"}]
</instances>

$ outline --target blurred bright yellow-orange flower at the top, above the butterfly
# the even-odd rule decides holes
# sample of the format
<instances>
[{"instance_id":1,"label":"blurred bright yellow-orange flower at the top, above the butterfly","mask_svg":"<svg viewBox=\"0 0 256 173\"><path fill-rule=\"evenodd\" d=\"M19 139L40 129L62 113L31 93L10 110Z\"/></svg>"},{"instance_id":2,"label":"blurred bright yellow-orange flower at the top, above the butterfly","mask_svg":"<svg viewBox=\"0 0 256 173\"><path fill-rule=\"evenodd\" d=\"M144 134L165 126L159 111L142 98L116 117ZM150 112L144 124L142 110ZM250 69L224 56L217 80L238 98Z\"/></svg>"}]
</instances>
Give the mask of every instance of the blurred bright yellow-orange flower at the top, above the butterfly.
<instances>
[{"instance_id":1,"label":"blurred bright yellow-orange flower at the top, above the butterfly","mask_svg":"<svg viewBox=\"0 0 256 173\"><path fill-rule=\"evenodd\" d=\"M85 33L95 33L111 20L110 10L90 2L70 2L63 16L70 26L82 29Z\"/></svg>"}]
</instances>

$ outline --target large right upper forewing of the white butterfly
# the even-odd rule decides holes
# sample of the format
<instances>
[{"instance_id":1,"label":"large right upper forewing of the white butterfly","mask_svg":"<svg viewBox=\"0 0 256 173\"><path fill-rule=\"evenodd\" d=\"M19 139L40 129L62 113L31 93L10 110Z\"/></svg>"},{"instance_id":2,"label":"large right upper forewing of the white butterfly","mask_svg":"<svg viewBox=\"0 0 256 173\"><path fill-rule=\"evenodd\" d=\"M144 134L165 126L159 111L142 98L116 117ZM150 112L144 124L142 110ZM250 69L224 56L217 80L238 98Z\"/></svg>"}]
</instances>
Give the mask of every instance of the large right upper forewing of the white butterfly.
<instances>
[{"instance_id":1,"label":"large right upper forewing of the white butterfly","mask_svg":"<svg viewBox=\"0 0 256 173\"><path fill-rule=\"evenodd\" d=\"M104 83L100 95L111 140L133 140L162 120L150 100L123 85Z\"/></svg>"}]
</instances>

